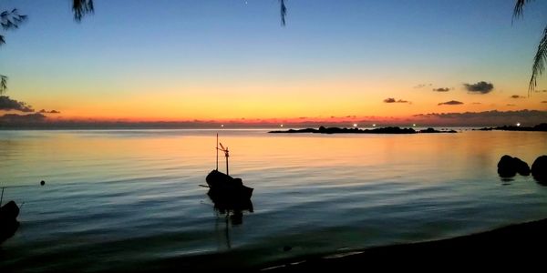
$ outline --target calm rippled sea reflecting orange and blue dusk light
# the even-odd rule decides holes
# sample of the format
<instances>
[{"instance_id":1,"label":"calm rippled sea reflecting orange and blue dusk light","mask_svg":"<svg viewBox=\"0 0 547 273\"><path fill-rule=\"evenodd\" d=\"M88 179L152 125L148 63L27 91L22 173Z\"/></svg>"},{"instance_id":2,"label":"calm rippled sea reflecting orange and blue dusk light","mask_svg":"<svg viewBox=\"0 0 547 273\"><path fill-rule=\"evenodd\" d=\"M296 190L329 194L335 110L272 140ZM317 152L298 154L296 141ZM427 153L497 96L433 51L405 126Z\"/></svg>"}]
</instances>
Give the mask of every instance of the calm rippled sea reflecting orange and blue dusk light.
<instances>
[{"instance_id":1,"label":"calm rippled sea reflecting orange and blue dusk light","mask_svg":"<svg viewBox=\"0 0 547 273\"><path fill-rule=\"evenodd\" d=\"M547 154L545 133L224 130L231 174L254 187L254 211L235 225L199 187L215 167L216 133L0 131L4 202L24 203L0 268L260 267L547 217L547 187L496 172L504 154L529 164Z\"/></svg>"}]
</instances>

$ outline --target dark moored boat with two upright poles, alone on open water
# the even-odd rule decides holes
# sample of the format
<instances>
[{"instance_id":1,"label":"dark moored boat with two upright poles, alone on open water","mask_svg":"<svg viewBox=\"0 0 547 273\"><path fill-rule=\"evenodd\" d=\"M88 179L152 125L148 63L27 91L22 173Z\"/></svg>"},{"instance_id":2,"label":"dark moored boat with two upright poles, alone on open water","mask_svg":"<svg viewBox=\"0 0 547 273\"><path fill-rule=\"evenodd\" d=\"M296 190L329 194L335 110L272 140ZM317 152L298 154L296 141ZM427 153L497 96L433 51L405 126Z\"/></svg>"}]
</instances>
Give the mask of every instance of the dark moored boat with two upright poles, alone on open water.
<instances>
[{"instance_id":1,"label":"dark moored boat with two upright poles, alone on open water","mask_svg":"<svg viewBox=\"0 0 547 273\"><path fill-rule=\"evenodd\" d=\"M219 147L219 144L221 147ZM205 177L205 181L207 181L207 185L209 185L209 197L211 197L215 203L217 203L217 201L224 204L233 203L235 205L237 205L237 203L246 203L253 195L253 188L244 186L241 178L233 178L229 175L228 157L230 157L230 155L228 147L223 147L222 143L219 143L218 134L216 150L217 167ZM224 152L224 157L226 157L225 174L219 171L219 151Z\"/></svg>"}]
</instances>

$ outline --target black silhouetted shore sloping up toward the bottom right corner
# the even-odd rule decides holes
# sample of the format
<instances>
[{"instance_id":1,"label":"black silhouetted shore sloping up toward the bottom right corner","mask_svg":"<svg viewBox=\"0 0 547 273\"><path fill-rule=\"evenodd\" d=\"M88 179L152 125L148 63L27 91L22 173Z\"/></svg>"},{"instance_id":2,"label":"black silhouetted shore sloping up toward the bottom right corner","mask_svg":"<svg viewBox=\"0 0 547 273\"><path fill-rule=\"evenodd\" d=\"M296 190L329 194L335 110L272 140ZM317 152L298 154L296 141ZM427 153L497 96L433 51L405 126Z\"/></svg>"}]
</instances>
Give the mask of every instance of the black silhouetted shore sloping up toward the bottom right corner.
<instances>
[{"instance_id":1,"label":"black silhouetted shore sloping up toward the bottom right corner","mask_svg":"<svg viewBox=\"0 0 547 273\"><path fill-rule=\"evenodd\" d=\"M294 258L265 272L362 272L363 268L504 268L542 264L547 219L436 241L367 248L339 258ZM442 269L441 269L442 270Z\"/></svg>"}]
</instances>

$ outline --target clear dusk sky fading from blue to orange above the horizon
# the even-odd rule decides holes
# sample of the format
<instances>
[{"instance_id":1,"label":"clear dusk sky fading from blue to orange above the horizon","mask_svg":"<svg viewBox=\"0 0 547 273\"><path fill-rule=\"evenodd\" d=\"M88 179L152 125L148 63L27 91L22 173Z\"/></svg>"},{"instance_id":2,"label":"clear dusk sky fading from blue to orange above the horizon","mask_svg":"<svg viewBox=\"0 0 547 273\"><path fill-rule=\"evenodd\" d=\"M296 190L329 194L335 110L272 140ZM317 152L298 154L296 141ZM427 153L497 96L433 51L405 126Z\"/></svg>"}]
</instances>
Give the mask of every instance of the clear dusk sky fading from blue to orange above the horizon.
<instances>
[{"instance_id":1,"label":"clear dusk sky fading from blue to orange above the horizon","mask_svg":"<svg viewBox=\"0 0 547 273\"><path fill-rule=\"evenodd\" d=\"M4 105L20 107L0 115L412 123L471 112L547 120L547 75L528 96L547 3L526 5L511 24L514 2L286 0L283 26L278 0L95 0L81 23L68 0L0 0L0 10L28 15L2 32ZM451 122L465 124L463 116Z\"/></svg>"}]
</instances>

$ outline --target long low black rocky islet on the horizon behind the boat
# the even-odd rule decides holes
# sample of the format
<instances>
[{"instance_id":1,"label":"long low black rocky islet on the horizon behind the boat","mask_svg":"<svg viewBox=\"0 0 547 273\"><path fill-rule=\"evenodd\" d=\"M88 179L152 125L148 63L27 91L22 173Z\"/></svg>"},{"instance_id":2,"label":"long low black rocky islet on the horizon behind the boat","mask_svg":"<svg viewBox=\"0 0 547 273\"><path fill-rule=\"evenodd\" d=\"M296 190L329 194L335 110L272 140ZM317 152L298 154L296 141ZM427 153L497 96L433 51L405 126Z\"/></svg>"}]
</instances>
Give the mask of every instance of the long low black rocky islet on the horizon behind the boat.
<instances>
[{"instance_id":1,"label":"long low black rocky islet on the horizon behind the boat","mask_svg":"<svg viewBox=\"0 0 547 273\"><path fill-rule=\"evenodd\" d=\"M320 126L318 129L305 128L305 129L288 129L284 131L270 131L268 133L273 134L300 134L300 133L314 133L314 134L418 134L418 133L457 133L454 130L435 130L433 128L427 128L425 130L415 130L413 128L401 128L397 126L381 127L375 129L359 129L359 128L340 128L340 127L325 127Z\"/></svg>"}]
</instances>

